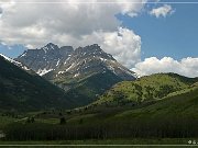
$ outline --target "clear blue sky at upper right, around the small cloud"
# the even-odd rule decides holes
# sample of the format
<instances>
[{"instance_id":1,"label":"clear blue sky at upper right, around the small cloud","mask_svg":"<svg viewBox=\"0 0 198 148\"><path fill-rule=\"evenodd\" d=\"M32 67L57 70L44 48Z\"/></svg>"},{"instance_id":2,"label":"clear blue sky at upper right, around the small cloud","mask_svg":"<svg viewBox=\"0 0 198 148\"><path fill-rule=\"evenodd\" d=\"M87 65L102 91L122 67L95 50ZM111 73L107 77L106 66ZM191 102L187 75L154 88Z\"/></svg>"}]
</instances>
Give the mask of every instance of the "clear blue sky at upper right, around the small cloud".
<instances>
[{"instance_id":1,"label":"clear blue sky at upper right, around the small cloud","mask_svg":"<svg viewBox=\"0 0 198 148\"><path fill-rule=\"evenodd\" d=\"M153 4L150 4L150 8ZM136 18L119 15L123 26L142 38L142 59L174 59L198 56L198 4L172 4L175 12L166 18L142 13Z\"/></svg>"}]
</instances>

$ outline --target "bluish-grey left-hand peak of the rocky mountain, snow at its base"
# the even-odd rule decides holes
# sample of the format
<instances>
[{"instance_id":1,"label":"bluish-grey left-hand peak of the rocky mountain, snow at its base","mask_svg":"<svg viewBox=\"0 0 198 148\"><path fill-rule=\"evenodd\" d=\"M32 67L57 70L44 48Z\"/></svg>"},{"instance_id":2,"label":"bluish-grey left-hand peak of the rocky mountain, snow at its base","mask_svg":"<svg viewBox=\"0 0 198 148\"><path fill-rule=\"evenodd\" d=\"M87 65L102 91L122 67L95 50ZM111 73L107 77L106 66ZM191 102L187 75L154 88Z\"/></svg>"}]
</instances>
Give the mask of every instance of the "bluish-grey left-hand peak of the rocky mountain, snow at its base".
<instances>
[{"instance_id":1,"label":"bluish-grey left-hand peak of the rocky mountain, snow at its base","mask_svg":"<svg viewBox=\"0 0 198 148\"><path fill-rule=\"evenodd\" d=\"M58 47L52 43L41 49L25 50L15 60L26 65L40 76L43 76L62 65L73 53L73 47Z\"/></svg>"}]
</instances>

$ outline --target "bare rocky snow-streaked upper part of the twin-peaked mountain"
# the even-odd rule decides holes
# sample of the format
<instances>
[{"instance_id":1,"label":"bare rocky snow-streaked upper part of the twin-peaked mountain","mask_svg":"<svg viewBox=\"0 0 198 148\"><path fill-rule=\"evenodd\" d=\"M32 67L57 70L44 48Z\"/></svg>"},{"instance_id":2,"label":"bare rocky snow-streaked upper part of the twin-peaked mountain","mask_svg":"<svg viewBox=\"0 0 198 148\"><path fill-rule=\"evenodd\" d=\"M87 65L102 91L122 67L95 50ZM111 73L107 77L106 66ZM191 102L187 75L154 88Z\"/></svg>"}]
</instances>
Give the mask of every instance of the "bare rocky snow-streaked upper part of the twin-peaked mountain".
<instances>
[{"instance_id":1,"label":"bare rocky snow-streaked upper part of the twin-peaked mountain","mask_svg":"<svg viewBox=\"0 0 198 148\"><path fill-rule=\"evenodd\" d=\"M44 52L43 52L44 50ZM82 78L91 73L111 71L123 80L135 79L134 72L120 65L98 44L78 47L58 47L52 43L41 49L29 49L16 58L40 76L56 78Z\"/></svg>"}]
</instances>

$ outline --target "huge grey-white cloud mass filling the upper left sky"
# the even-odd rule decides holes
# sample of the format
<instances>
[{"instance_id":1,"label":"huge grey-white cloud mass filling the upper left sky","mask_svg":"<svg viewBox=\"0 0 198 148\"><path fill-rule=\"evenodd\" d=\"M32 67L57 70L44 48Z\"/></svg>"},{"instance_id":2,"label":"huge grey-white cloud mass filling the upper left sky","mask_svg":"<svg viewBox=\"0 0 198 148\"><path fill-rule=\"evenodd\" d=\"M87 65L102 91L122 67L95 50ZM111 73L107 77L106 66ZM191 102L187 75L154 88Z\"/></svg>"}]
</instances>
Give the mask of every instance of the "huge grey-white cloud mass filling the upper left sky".
<instances>
[{"instance_id":1,"label":"huge grey-white cloud mass filling the upper left sky","mask_svg":"<svg viewBox=\"0 0 198 148\"><path fill-rule=\"evenodd\" d=\"M52 2L52 3L51 3ZM141 37L116 18L138 15L146 0L0 0L0 38L38 48L48 42L75 47L99 44L132 68L140 61Z\"/></svg>"}]
</instances>

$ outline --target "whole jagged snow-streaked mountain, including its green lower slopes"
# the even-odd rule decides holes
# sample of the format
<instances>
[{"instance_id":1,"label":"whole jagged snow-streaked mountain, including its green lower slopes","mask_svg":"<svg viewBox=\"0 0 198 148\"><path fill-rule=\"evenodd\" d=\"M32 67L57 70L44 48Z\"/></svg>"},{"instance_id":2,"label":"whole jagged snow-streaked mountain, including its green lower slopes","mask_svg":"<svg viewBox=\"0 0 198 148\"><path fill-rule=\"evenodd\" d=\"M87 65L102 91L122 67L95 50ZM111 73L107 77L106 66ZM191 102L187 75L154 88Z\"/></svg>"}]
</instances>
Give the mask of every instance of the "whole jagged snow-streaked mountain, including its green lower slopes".
<instances>
[{"instance_id":1,"label":"whole jagged snow-streaked mountain, including its green lower slopes","mask_svg":"<svg viewBox=\"0 0 198 148\"><path fill-rule=\"evenodd\" d=\"M91 103L117 82L136 79L97 44L74 50L50 43L41 49L25 50L15 60L63 88L79 105Z\"/></svg>"}]
</instances>

